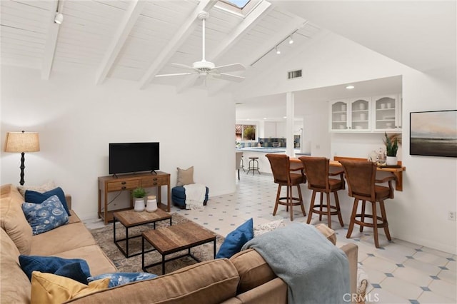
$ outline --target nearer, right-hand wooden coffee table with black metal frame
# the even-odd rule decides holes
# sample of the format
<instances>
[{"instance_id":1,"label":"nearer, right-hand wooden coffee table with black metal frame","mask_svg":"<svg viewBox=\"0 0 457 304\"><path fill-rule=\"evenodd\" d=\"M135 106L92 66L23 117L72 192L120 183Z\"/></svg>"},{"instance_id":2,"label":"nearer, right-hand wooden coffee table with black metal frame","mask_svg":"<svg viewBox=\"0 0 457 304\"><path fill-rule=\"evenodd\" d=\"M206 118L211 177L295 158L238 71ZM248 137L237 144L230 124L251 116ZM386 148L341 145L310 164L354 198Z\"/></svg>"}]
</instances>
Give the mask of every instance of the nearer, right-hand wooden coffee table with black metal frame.
<instances>
[{"instance_id":1,"label":"nearer, right-hand wooden coffee table with black metal frame","mask_svg":"<svg viewBox=\"0 0 457 304\"><path fill-rule=\"evenodd\" d=\"M162 255L162 260L159 263L150 265L144 265L144 254L148 251L144 250L145 240L151 243L151 245L159 251ZM209 230L201 228L193 222L182 223L175 226L169 226L166 228L160 228L157 230L149 230L143 233L142 250L141 250L141 268L144 272L147 272L146 268L162 264L162 274L165 274L165 262L169 260L176 260L183 258L184 256L190 256L197 262L200 260L191 253L191 248L204 243L213 242L214 244L214 258L216 258L216 235L211 233ZM174 258L165 259L166 255L176 253L181 250L188 250L184 255L179 255Z\"/></svg>"}]
</instances>

